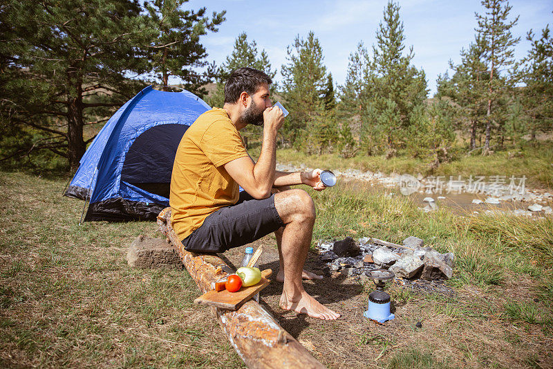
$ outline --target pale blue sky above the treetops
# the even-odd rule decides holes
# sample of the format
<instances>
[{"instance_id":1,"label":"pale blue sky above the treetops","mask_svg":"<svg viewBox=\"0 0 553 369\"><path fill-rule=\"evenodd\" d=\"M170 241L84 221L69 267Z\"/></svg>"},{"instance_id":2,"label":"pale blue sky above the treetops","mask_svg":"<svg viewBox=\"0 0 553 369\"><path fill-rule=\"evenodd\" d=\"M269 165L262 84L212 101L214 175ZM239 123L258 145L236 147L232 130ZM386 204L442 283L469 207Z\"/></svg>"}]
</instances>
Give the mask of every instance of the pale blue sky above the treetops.
<instances>
[{"instance_id":1,"label":"pale blue sky above the treetops","mask_svg":"<svg viewBox=\"0 0 553 369\"><path fill-rule=\"evenodd\" d=\"M299 35L306 38L312 30L319 39L324 53L324 63L332 73L335 84L344 84L348 69L348 57L359 42L372 53L376 31L382 20L387 0L191 0L185 8L197 10L203 6L207 12L227 10L226 21L218 33L209 33L200 39L207 49L209 62L224 62L232 53L234 40L242 32L249 42L256 41L258 51L264 49L273 69L285 64L286 47ZM476 0L399 0L400 17L404 23L406 48L413 46L412 63L424 69L430 89L435 93L438 74L449 68L449 60L460 62L460 51L474 41L475 12L483 13ZM514 0L511 17L519 15L518 24L512 29L521 41L515 48L517 59L529 50L527 31L541 34L547 24L553 27L553 0ZM450 73L451 75L452 73Z\"/></svg>"}]
</instances>

